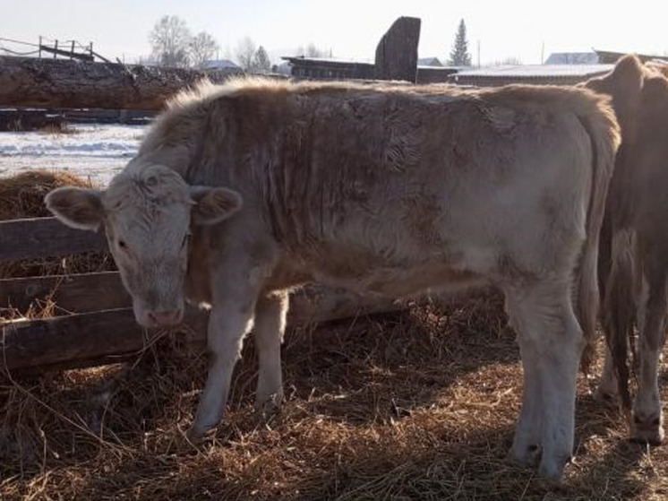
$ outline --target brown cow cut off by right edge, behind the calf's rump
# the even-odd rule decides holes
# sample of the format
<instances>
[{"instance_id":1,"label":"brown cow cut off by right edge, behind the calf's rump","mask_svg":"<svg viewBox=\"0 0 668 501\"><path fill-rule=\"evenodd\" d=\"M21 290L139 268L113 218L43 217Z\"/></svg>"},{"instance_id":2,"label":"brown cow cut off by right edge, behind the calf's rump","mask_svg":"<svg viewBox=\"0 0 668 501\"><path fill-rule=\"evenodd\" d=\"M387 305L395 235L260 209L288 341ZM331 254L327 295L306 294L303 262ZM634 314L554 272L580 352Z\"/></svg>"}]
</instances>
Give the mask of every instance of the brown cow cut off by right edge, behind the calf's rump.
<instances>
[{"instance_id":1,"label":"brown cow cut off by right edge, behind the calf's rump","mask_svg":"<svg viewBox=\"0 0 668 501\"><path fill-rule=\"evenodd\" d=\"M668 80L626 56L587 86L612 96L621 147L601 236L602 320L608 339L598 396L630 408L628 340L638 327L638 394L632 436L664 439L658 361L664 345L668 279Z\"/></svg>"}]
</instances>

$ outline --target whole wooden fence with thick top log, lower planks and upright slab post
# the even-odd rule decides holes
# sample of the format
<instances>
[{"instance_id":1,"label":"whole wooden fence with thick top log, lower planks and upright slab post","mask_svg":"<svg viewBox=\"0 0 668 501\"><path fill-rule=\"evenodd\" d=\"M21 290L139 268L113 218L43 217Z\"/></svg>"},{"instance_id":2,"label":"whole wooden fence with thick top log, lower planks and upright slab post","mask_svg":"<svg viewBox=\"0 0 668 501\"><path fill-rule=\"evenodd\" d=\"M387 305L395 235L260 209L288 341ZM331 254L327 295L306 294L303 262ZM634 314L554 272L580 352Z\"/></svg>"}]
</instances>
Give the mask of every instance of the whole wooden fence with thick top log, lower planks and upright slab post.
<instances>
[{"instance_id":1,"label":"whole wooden fence with thick top log, lower planks and upright slab post","mask_svg":"<svg viewBox=\"0 0 668 501\"><path fill-rule=\"evenodd\" d=\"M381 39L382 78L415 81L420 21L400 18ZM410 37L408 37L410 34ZM0 56L0 105L46 108L158 110L176 91L228 72ZM104 235L66 228L54 218L0 222L0 261L107 250ZM70 315L0 321L0 368L10 371L85 367L141 351L156 333L134 320L132 301L117 272L0 280L0 307L25 310L49 299ZM343 290L307 288L293 294L288 324L300 325L398 309L391 300ZM207 315L188 311L185 341L204 341Z\"/></svg>"}]
</instances>

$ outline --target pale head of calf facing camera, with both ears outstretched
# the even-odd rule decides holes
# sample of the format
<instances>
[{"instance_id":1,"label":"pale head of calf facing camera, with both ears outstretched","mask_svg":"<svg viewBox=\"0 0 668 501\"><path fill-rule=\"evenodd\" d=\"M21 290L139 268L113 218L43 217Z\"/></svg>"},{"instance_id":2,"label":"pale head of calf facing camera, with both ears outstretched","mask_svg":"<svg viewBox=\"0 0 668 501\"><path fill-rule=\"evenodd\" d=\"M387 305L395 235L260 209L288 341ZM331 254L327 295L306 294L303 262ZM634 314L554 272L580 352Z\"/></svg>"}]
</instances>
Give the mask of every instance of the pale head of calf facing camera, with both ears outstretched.
<instances>
[{"instance_id":1,"label":"pale head of calf facing camera, with both ears outstretched","mask_svg":"<svg viewBox=\"0 0 668 501\"><path fill-rule=\"evenodd\" d=\"M126 168L107 190L58 188L49 211L77 229L104 228L137 322L178 324L191 225L212 225L241 208L241 195L223 187L189 186L174 170Z\"/></svg>"}]
</instances>

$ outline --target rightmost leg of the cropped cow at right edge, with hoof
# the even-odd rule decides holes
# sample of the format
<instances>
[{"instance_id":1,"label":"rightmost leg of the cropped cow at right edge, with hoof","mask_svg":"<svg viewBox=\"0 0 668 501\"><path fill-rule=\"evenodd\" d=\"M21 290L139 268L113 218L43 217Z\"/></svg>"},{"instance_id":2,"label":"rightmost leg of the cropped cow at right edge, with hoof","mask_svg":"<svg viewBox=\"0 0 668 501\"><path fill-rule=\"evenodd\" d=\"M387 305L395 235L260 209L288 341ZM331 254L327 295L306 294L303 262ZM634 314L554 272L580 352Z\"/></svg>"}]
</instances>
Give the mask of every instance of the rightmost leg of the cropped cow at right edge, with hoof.
<instances>
[{"instance_id":1,"label":"rightmost leg of the cropped cow at right edge, with hoof","mask_svg":"<svg viewBox=\"0 0 668 501\"><path fill-rule=\"evenodd\" d=\"M668 273L662 257L647 257L638 304L638 395L633 405L632 436L650 444L664 440L658 366L664 346Z\"/></svg>"}]
</instances>

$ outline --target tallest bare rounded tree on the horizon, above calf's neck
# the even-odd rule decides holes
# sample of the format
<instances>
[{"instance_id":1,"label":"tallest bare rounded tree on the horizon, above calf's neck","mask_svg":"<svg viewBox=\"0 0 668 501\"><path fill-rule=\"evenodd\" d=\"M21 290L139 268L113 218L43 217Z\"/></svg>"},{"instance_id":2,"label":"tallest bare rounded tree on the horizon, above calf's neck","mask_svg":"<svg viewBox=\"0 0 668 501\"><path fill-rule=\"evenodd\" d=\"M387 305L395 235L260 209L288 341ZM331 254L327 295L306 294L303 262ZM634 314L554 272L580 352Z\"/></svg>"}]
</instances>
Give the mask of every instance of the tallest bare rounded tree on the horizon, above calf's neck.
<instances>
[{"instance_id":1,"label":"tallest bare rounded tree on the horizon, above calf's neck","mask_svg":"<svg viewBox=\"0 0 668 501\"><path fill-rule=\"evenodd\" d=\"M186 67L190 30L184 20L176 15L165 15L149 33L153 57L161 66Z\"/></svg>"}]
</instances>

